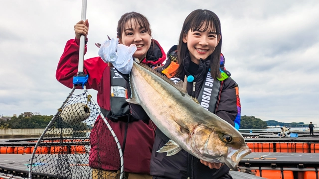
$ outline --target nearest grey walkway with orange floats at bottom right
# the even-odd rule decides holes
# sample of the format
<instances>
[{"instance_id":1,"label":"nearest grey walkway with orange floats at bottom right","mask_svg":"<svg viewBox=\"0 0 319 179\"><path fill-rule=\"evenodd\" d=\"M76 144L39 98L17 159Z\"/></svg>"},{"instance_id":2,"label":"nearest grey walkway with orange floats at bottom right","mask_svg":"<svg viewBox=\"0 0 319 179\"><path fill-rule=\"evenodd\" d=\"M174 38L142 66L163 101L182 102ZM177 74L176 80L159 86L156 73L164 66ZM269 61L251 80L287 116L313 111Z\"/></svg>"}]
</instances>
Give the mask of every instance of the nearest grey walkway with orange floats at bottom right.
<instances>
[{"instance_id":1,"label":"nearest grey walkway with orange floats at bottom right","mask_svg":"<svg viewBox=\"0 0 319 179\"><path fill-rule=\"evenodd\" d=\"M266 179L318 179L314 153L251 153L239 163L241 172Z\"/></svg>"}]
</instances>

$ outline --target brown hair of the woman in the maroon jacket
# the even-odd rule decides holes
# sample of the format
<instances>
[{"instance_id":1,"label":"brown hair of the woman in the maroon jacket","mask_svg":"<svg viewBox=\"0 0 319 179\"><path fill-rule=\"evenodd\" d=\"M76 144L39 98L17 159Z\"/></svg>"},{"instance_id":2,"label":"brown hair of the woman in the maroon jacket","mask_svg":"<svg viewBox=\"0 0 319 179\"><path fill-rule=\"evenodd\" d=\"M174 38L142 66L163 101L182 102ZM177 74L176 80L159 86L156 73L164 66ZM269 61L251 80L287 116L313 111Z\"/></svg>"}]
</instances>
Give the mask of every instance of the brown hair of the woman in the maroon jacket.
<instances>
[{"instance_id":1,"label":"brown hair of the woman in the maroon jacket","mask_svg":"<svg viewBox=\"0 0 319 179\"><path fill-rule=\"evenodd\" d=\"M118 27L116 29L117 36L119 39L122 37L122 32L125 30L125 24L130 20L131 23L129 23L129 28L132 28L132 23L134 23L135 26L139 25L140 27L144 27L148 34L150 34L152 38L152 30L149 20L139 12L127 12L123 14L118 21Z\"/></svg>"}]
</instances>

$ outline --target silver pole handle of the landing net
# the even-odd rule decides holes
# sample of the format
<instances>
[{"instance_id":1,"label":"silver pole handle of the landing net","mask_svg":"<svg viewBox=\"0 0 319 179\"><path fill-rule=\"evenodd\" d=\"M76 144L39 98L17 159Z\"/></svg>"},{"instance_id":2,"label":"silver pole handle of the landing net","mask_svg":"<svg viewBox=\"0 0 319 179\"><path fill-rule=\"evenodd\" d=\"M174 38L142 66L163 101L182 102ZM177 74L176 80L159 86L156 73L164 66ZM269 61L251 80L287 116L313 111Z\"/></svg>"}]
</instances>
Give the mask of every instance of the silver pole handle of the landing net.
<instances>
[{"instance_id":1,"label":"silver pole handle of the landing net","mask_svg":"<svg viewBox=\"0 0 319 179\"><path fill-rule=\"evenodd\" d=\"M86 20L86 4L87 0L82 0L82 11L81 11L81 20ZM85 36L80 36L80 52L79 52L79 68L78 74L83 73L83 62L84 62L84 47L85 47Z\"/></svg>"}]
</instances>

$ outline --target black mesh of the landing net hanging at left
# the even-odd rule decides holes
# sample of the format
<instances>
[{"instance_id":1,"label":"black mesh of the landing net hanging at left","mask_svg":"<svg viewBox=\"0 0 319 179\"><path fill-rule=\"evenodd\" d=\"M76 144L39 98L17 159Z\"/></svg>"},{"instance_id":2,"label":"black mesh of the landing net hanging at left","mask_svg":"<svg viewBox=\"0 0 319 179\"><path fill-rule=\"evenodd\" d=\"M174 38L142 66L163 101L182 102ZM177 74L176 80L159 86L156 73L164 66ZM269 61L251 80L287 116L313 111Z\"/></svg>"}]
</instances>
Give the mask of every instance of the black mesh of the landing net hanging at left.
<instances>
[{"instance_id":1,"label":"black mesh of the landing net hanging at left","mask_svg":"<svg viewBox=\"0 0 319 179\"><path fill-rule=\"evenodd\" d=\"M70 95L38 142L32 179L120 178L118 142L99 111L87 91Z\"/></svg>"}]
</instances>

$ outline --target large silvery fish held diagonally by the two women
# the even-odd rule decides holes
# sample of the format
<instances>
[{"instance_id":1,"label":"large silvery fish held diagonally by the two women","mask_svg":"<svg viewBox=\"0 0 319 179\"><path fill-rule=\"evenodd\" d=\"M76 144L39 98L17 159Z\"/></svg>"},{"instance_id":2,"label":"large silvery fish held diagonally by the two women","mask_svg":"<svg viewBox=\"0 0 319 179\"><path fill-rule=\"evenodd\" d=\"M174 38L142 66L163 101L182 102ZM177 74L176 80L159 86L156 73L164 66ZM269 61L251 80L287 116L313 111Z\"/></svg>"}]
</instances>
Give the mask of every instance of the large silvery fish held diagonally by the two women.
<instances>
[{"instance_id":1,"label":"large silvery fish held diagonally by the two women","mask_svg":"<svg viewBox=\"0 0 319 179\"><path fill-rule=\"evenodd\" d=\"M158 152L167 156L184 149L198 159L223 163L238 171L240 160L251 153L243 136L228 122L204 109L186 92L187 80L176 85L152 68L134 62L130 75L132 96L170 139Z\"/></svg>"}]
</instances>

